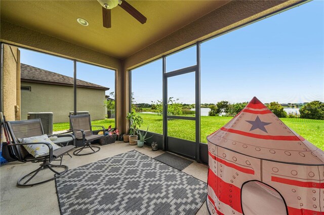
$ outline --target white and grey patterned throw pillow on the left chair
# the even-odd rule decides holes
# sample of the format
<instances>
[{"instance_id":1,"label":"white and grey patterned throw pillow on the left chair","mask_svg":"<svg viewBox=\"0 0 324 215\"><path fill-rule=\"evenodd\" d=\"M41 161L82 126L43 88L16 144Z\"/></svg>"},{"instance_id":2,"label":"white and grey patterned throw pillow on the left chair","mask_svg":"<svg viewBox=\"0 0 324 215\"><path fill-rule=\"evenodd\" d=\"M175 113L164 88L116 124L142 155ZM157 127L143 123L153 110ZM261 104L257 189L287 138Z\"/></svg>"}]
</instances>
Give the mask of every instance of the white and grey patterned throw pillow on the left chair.
<instances>
[{"instance_id":1,"label":"white and grey patterned throw pillow on the left chair","mask_svg":"<svg viewBox=\"0 0 324 215\"><path fill-rule=\"evenodd\" d=\"M53 143L46 134L42 136L19 138L18 141L20 143L48 142L52 145L53 151L60 148L60 146ZM50 152L49 147L45 144L33 144L33 145L23 145L23 146L34 157L43 156Z\"/></svg>"}]
</instances>

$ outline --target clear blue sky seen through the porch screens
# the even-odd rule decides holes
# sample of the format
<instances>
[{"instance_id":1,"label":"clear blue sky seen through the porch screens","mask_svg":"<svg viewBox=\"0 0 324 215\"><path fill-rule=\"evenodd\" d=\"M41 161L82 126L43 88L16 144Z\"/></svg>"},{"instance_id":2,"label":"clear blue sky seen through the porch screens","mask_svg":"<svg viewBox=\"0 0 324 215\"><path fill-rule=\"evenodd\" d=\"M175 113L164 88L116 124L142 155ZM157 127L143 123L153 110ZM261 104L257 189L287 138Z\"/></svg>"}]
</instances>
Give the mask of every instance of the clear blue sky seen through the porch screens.
<instances>
[{"instance_id":1,"label":"clear blue sky seen through the porch screens","mask_svg":"<svg viewBox=\"0 0 324 215\"><path fill-rule=\"evenodd\" d=\"M167 71L196 64L195 47L167 57ZM21 49L21 63L73 76L73 62ZM114 71L77 64L77 78L114 91ZM106 77L106 78L103 78ZM201 103L324 101L324 1L313 1L201 44ZM162 61L132 72L136 102L162 99ZM169 97L194 103L194 74L168 80Z\"/></svg>"}]
</instances>

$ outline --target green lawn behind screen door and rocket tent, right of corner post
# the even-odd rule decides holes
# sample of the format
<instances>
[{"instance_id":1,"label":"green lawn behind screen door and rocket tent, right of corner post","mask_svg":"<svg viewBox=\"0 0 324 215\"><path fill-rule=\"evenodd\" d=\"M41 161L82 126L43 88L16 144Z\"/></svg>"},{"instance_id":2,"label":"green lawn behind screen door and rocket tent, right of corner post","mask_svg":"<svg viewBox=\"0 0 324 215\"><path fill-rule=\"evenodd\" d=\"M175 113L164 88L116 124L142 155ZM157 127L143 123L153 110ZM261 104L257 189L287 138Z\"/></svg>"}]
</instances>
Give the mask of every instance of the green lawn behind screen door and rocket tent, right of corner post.
<instances>
[{"instance_id":1,"label":"green lawn behind screen door and rocket tent, right of corner post","mask_svg":"<svg viewBox=\"0 0 324 215\"><path fill-rule=\"evenodd\" d=\"M142 130L162 134L163 122L162 116L155 114L139 114L144 124L141 126ZM206 137L214 131L225 125L232 117L201 117L201 137L200 141L207 143ZM294 130L299 135L303 136L312 144L324 150L324 120L309 120L298 118L280 118L288 127ZM169 120L168 121L168 135L181 139L194 141L195 125L194 121L189 120Z\"/></svg>"}]
</instances>

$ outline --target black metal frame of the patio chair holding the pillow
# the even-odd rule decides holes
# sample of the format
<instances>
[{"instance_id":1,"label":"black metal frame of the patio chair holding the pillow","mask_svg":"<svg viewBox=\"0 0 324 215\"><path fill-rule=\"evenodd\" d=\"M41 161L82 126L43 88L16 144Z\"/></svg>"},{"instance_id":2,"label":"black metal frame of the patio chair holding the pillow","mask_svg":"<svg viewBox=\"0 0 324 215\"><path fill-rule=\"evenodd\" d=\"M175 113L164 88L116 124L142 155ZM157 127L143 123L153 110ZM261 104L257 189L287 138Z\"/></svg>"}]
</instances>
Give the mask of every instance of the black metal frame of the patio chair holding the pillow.
<instances>
[{"instance_id":1,"label":"black metal frame of the patio chair holding the pillow","mask_svg":"<svg viewBox=\"0 0 324 215\"><path fill-rule=\"evenodd\" d=\"M49 181L52 181L56 178L61 177L63 174L66 173L66 171L68 170L68 167L66 165L53 165L51 164L51 162L53 162L54 160L57 160L57 158L61 158L61 163L62 163L62 156L64 154L66 154L67 152L69 152L70 150L72 150L74 147L67 147L66 150L61 150L62 153L58 153L57 155L55 155L55 151L53 154L53 147L50 143L48 142L36 142L36 143L18 143L18 140L15 136L15 133L12 129L12 125L15 124L26 124L28 125L28 123L40 123L41 125L41 129L42 129L42 133L44 134L44 129L42 126L42 122L40 119L33 119L33 120L22 120L22 121L11 121L11 122L6 122L4 121L3 125L4 128L6 130L6 132L8 133L8 137L9 137L9 141L10 144L8 144L8 149L9 149L9 154L12 158L19 160L20 162L26 163L26 162L32 162L32 163L42 163L41 167L37 168L36 170L32 171L31 173L28 173L27 175L21 177L18 179L17 185L21 186L21 187L32 187L34 185L38 185L38 184L43 184ZM42 135L42 134L41 134ZM28 136L26 136L28 137ZM72 135L73 140L74 140L74 136ZM74 141L73 141L74 142ZM32 145L32 144L45 144L47 147L49 147L49 153L40 157L31 157L31 156L27 156L24 157L22 155L22 152L20 150L19 146L23 146L23 145ZM62 147L64 148L64 147ZM59 149L57 149L59 150ZM54 170L53 168L64 168L65 170L62 172L58 172L56 170ZM49 169L54 173L54 177L41 181L41 182L37 182L37 183L30 183L28 184L28 182L33 179L40 171L44 170L44 169ZM25 182L22 182L24 179L28 178Z\"/></svg>"}]
</instances>

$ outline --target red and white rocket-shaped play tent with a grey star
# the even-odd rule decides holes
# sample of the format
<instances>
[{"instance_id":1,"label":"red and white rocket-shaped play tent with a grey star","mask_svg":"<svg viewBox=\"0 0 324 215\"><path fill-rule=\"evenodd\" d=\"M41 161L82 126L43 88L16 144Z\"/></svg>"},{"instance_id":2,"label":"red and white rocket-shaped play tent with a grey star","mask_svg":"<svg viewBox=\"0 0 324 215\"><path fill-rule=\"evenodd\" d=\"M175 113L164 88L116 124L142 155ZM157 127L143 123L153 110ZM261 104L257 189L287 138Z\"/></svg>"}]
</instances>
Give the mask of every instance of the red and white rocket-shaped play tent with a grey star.
<instances>
[{"instance_id":1,"label":"red and white rocket-shaped play tent with a grey star","mask_svg":"<svg viewBox=\"0 0 324 215\"><path fill-rule=\"evenodd\" d=\"M324 214L324 152L256 97L207 139L211 214Z\"/></svg>"}]
</instances>

